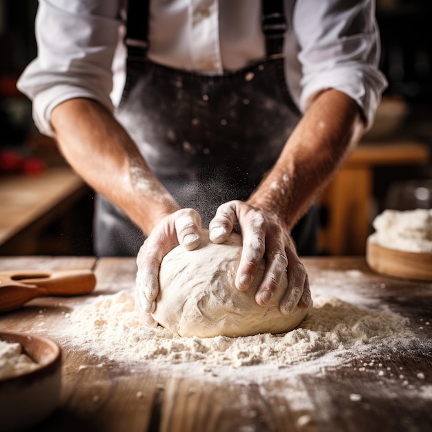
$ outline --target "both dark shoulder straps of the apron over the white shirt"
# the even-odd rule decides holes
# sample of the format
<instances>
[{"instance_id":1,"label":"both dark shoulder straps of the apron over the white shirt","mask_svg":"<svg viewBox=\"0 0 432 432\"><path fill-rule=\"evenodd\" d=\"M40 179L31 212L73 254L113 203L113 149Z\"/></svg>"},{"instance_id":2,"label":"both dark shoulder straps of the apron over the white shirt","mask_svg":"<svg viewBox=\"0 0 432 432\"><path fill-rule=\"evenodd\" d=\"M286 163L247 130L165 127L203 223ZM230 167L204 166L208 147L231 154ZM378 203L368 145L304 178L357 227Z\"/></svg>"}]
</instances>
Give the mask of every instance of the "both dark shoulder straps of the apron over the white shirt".
<instances>
[{"instance_id":1,"label":"both dark shoulder straps of the apron over the white shirt","mask_svg":"<svg viewBox=\"0 0 432 432\"><path fill-rule=\"evenodd\" d=\"M262 32L266 38L266 55L281 54L286 32L284 0L262 0ZM148 50L150 0L129 0L125 43L128 57L141 57Z\"/></svg>"}]
</instances>

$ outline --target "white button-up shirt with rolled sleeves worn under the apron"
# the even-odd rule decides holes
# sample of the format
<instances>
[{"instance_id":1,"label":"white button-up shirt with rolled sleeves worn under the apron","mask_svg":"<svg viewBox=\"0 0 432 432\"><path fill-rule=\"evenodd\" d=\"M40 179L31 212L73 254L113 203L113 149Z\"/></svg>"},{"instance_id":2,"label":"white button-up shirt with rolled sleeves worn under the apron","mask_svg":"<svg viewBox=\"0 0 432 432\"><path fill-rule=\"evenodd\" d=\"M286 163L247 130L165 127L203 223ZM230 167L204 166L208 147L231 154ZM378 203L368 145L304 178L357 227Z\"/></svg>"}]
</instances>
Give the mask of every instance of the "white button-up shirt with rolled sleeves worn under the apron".
<instances>
[{"instance_id":1,"label":"white button-up shirt with rolled sleeves worn under the apron","mask_svg":"<svg viewBox=\"0 0 432 432\"><path fill-rule=\"evenodd\" d=\"M374 0L284 0L288 89L304 112L321 90L335 88L373 123L386 79L378 70L380 40ZM113 110L125 79L125 0L40 0L38 55L18 88L33 101L39 130L75 97ZM152 0L148 57L204 74L233 71L265 55L260 0Z\"/></svg>"}]
</instances>

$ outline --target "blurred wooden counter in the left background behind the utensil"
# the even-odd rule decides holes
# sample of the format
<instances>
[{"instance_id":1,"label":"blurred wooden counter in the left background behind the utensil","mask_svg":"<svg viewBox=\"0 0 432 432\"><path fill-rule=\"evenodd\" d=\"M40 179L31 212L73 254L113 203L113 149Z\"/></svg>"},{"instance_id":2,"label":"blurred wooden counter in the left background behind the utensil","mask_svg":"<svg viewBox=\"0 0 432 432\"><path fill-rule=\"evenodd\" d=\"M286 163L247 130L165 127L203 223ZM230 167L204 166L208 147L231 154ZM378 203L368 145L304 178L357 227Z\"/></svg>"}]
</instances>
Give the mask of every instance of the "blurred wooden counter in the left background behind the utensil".
<instances>
[{"instance_id":1,"label":"blurred wooden counter in the left background behind the utensil","mask_svg":"<svg viewBox=\"0 0 432 432\"><path fill-rule=\"evenodd\" d=\"M68 167L1 177L0 255L91 253L91 197Z\"/></svg>"}]
</instances>

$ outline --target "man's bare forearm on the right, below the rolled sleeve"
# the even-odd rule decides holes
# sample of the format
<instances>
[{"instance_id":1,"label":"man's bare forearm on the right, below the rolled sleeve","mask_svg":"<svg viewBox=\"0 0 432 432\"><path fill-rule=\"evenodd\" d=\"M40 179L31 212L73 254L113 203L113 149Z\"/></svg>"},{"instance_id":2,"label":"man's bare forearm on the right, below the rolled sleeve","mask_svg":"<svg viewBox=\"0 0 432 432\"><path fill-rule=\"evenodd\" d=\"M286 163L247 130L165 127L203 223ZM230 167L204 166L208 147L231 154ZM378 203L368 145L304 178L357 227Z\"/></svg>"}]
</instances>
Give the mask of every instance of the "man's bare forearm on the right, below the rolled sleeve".
<instances>
[{"instance_id":1,"label":"man's bare forearm on the right, below the rolled sleeve","mask_svg":"<svg viewBox=\"0 0 432 432\"><path fill-rule=\"evenodd\" d=\"M315 98L277 163L248 200L291 229L357 145L364 123L357 104L337 90Z\"/></svg>"}]
</instances>

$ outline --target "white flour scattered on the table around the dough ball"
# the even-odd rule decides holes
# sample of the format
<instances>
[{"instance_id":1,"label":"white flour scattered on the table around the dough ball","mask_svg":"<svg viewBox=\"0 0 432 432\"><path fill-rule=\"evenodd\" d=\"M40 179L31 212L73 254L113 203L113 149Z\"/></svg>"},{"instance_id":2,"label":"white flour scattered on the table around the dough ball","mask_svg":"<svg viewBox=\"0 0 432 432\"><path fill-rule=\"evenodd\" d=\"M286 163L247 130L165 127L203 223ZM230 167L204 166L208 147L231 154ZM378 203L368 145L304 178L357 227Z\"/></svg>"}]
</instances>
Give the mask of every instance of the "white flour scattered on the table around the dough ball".
<instances>
[{"instance_id":1,"label":"white flour scattered on the table around the dough ball","mask_svg":"<svg viewBox=\"0 0 432 432\"><path fill-rule=\"evenodd\" d=\"M126 291L101 295L70 313L63 334L67 346L117 362L217 366L273 365L284 367L319 359L340 362L356 350L371 352L411 335L408 320L391 311L353 306L336 297L314 297L306 319L288 333L246 337L179 337L165 328L146 328L135 312L134 296ZM324 357L326 360L324 361Z\"/></svg>"}]
</instances>

